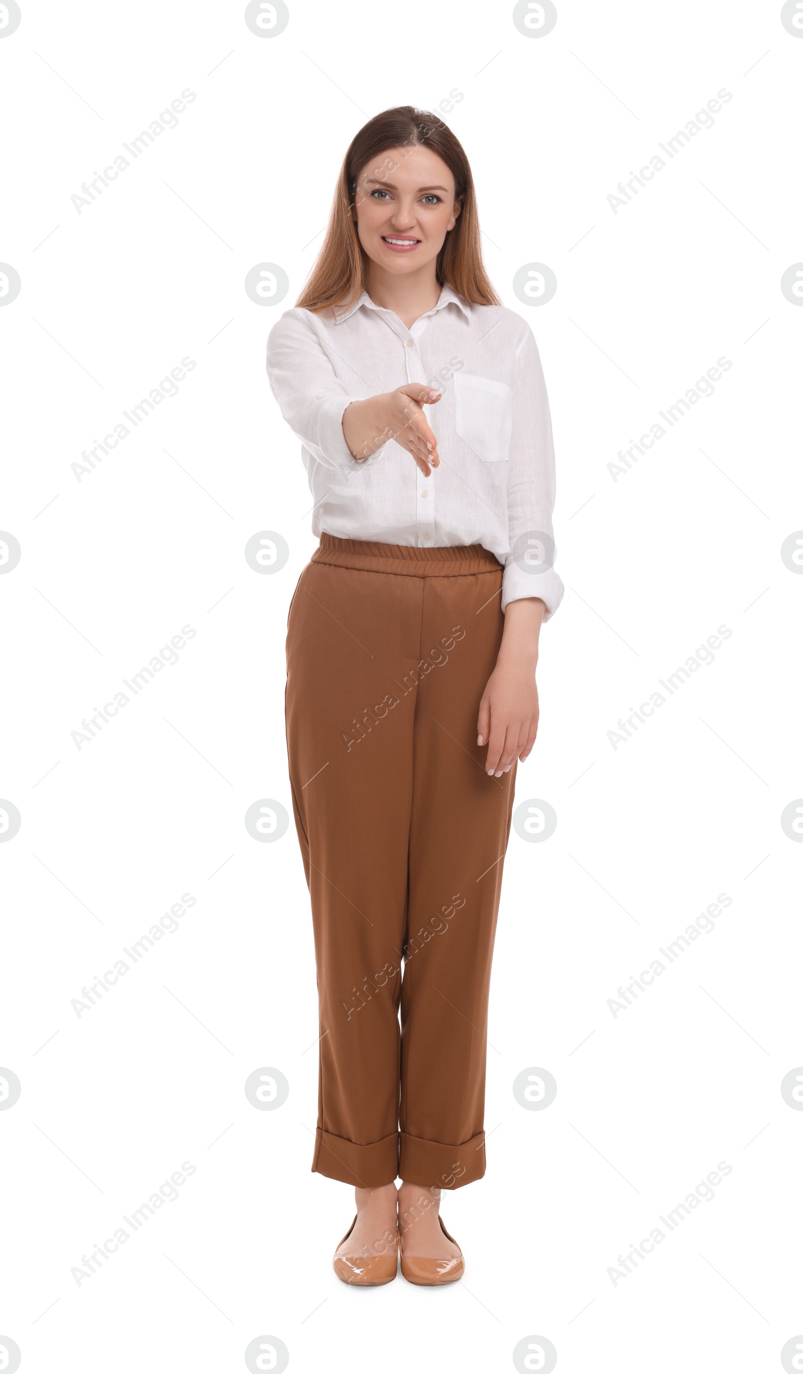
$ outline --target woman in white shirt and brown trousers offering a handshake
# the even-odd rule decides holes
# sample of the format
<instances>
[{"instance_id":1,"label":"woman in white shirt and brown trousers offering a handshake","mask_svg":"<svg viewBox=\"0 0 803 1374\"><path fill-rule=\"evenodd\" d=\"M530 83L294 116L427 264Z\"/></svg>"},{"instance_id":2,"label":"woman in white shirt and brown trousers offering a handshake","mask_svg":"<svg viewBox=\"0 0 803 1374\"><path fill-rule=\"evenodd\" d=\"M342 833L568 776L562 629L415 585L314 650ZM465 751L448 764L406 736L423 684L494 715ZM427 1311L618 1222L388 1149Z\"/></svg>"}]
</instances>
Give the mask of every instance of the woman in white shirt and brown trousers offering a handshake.
<instances>
[{"instance_id":1,"label":"woman in white shirt and brown trousers offering a handshake","mask_svg":"<svg viewBox=\"0 0 803 1374\"><path fill-rule=\"evenodd\" d=\"M386 110L354 137L268 374L320 534L286 692L320 999L312 1167L356 1191L339 1278L388 1282L398 1248L406 1279L450 1283L441 1190L485 1173L502 860L563 584L538 352L485 273L471 169L435 115Z\"/></svg>"}]
</instances>

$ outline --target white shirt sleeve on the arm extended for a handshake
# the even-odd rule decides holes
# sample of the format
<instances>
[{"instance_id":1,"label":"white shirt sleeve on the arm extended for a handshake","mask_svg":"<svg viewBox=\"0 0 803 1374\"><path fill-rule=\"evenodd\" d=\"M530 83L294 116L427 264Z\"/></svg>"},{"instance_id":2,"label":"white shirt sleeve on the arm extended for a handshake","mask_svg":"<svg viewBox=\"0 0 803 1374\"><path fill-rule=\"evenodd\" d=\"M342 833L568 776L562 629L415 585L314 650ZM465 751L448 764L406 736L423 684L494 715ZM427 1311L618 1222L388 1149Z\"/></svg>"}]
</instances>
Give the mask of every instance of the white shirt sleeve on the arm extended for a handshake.
<instances>
[{"instance_id":1,"label":"white shirt sleeve on the arm extended for a handshake","mask_svg":"<svg viewBox=\"0 0 803 1374\"><path fill-rule=\"evenodd\" d=\"M343 434L343 411L365 396L349 393L335 375L312 320L303 311L286 311L268 335L268 381L281 415L303 447L324 467L360 473L379 462L387 444L356 459Z\"/></svg>"}]
</instances>

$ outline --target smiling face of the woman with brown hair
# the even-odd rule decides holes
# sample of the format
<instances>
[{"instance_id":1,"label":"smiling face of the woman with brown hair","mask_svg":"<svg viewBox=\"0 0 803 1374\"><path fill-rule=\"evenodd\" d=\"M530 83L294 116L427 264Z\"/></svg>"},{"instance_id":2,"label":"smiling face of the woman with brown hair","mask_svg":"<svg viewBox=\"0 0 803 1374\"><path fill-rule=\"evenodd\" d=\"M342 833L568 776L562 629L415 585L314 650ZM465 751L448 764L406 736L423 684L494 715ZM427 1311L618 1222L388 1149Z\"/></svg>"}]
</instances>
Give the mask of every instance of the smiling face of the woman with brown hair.
<instances>
[{"instance_id":1,"label":"smiling face of the woman with brown hair","mask_svg":"<svg viewBox=\"0 0 803 1374\"><path fill-rule=\"evenodd\" d=\"M454 177L431 148L391 148L366 164L354 194L357 234L372 264L393 276L430 269L460 214Z\"/></svg>"}]
</instances>

